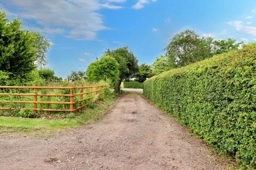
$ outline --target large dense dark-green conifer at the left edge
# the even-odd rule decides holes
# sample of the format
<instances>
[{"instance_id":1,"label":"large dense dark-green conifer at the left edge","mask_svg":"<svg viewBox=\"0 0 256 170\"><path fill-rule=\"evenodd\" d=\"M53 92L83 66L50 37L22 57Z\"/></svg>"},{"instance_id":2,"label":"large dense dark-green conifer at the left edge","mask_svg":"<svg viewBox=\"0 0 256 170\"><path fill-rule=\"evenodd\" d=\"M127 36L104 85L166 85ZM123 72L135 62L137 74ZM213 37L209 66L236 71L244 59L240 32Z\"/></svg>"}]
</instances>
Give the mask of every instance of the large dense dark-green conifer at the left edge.
<instances>
[{"instance_id":1,"label":"large dense dark-green conifer at the left edge","mask_svg":"<svg viewBox=\"0 0 256 170\"><path fill-rule=\"evenodd\" d=\"M35 68L33 36L21 30L19 20L9 21L3 12L0 12L0 51L0 70L11 73L10 78L26 78Z\"/></svg>"}]
</instances>

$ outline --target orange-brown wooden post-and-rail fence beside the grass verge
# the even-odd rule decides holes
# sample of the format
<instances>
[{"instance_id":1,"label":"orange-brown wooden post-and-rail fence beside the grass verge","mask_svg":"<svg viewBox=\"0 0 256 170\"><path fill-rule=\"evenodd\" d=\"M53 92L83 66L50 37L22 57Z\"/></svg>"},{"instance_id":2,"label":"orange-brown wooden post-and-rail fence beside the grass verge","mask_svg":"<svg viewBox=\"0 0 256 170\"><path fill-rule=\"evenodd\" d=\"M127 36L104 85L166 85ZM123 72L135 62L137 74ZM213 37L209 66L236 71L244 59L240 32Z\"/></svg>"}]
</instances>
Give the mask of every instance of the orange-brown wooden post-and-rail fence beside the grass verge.
<instances>
[{"instance_id":1,"label":"orange-brown wooden post-and-rail fence beside the grass verge","mask_svg":"<svg viewBox=\"0 0 256 170\"><path fill-rule=\"evenodd\" d=\"M51 111L51 112L75 112L78 109L82 109L90 102L86 102L85 104L83 101L88 101L104 92L106 86L81 86L81 87L38 87L38 86L0 86L0 89L32 89L34 93L0 93L0 96L34 96L33 101L21 101L21 100L2 100L2 103L24 103L24 104L34 104L34 108L13 108L13 107L0 107L0 110L22 110L22 109L30 109L33 110L36 114L37 111ZM69 90L69 94L37 94L38 89L63 89ZM75 94L74 90L78 89L79 93ZM85 90L87 89L87 90ZM85 90L85 91L84 91ZM84 95L89 97L84 97ZM38 96L48 96L48 97L69 97L69 101L37 101ZM74 101L74 97L78 96L79 99ZM75 104L80 104L74 108ZM38 108L37 104L58 104L58 105L69 105L69 109L52 109L52 108ZM83 105L82 105L83 104Z\"/></svg>"}]
</instances>

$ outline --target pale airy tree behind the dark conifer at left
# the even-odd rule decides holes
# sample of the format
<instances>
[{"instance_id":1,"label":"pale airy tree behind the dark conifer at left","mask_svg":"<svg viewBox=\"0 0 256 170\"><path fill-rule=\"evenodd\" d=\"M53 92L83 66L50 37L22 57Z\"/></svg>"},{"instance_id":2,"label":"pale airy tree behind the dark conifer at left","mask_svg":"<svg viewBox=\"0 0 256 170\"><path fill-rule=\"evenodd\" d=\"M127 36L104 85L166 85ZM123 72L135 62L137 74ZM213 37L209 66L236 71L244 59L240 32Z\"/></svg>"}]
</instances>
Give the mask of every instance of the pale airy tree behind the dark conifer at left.
<instances>
[{"instance_id":1,"label":"pale airy tree behind the dark conifer at left","mask_svg":"<svg viewBox=\"0 0 256 170\"><path fill-rule=\"evenodd\" d=\"M47 50L51 47L51 44L45 36L38 32L31 32L31 35L34 37L33 46L36 49L34 63L38 69L42 69L47 63L46 53Z\"/></svg>"}]
</instances>

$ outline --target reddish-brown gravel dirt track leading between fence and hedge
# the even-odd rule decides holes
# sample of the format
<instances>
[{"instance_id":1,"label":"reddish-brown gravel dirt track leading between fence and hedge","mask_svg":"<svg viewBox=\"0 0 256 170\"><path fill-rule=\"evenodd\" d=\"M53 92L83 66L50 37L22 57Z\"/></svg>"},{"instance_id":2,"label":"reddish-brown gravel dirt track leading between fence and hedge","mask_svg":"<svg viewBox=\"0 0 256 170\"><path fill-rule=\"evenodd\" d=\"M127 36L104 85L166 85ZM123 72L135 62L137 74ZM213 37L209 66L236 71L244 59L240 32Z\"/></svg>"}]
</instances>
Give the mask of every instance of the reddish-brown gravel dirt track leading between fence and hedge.
<instances>
[{"instance_id":1,"label":"reddish-brown gravel dirt track leading between fence and hedge","mask_svg":"<svg viewBox=\"0 0 256 170\"><path fill-rule=\"evenodd\" d=\"M209 149L140 95L102 121L55 137L0 135L0 169L226 169Z\"/></svg>"}]
</instances>

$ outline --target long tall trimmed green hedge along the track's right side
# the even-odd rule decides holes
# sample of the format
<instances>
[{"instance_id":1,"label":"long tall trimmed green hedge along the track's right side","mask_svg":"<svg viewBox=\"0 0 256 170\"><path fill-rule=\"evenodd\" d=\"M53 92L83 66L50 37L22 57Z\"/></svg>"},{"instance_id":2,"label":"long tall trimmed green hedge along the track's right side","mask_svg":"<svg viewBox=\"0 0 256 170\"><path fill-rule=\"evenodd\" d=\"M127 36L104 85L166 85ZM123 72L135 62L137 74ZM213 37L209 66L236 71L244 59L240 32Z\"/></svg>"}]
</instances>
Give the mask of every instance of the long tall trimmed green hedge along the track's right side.
<instances>
[{"instance_id":1,"label":"long tall trimmed green hedge along the track's right side","mask_svg":"<svg viewBox=\"0 0 256 170\"><path fill-rule=\"evenodd\" d=\"M256 44L159 74L144 93L209 145L256 168Z\"/></svg>"}]
</instances>

